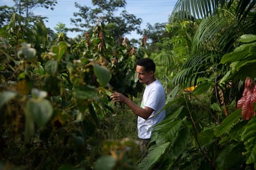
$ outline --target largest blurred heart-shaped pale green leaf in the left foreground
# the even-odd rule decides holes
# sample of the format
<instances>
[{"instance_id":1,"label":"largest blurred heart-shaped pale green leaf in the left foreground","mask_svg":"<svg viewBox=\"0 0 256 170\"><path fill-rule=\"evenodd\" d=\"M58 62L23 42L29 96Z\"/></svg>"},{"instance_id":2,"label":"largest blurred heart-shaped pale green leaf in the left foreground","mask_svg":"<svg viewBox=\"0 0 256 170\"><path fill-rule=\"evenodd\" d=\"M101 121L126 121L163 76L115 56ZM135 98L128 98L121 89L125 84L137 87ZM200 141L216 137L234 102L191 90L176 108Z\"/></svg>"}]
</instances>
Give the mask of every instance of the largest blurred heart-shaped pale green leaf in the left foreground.
<instances>
[{"instance_id":1,"label":"largest blurred heart-shaped pale green leaf in the left foreground","mask_svg":"<svg viewBox=\"0 0 256 170\"><path fill-rule=\"evenodd\" d=\"M48 100L30 99L26 105L26 112L38 126L42 127L48 123L49 118L53 115L53 107Z\"/></svg>"}]
</instances>

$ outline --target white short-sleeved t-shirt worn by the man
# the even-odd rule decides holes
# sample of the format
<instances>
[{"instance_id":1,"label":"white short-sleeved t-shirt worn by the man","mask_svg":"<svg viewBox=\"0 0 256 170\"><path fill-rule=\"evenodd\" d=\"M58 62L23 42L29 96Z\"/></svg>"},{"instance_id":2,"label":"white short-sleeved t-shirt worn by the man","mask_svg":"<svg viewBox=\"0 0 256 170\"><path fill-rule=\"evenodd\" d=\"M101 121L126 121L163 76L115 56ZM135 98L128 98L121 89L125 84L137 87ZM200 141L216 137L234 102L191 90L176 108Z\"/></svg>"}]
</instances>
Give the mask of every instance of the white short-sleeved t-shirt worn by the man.
<instances>
[{"instance_id":1,"label":"white short-sleeved t-shirt worn by the man","mask_svg":"<svg viewBox=\"0 0 256 170\"><path fill-rule=\"evenodd\" d=\"M158 111L160 111L165 105L165 92L163 85L156 79L153 83L148 84L145 87L145 91L143 93L142 103L140 107L152 108L154 111L149 116L148 119L143 119L138 116L137 128L138 128L138 137L140 139L150 139L152 126L157 123L160 123L165 117L165 110L161 111L158 115Z\"/></svg>"}]
</instances>

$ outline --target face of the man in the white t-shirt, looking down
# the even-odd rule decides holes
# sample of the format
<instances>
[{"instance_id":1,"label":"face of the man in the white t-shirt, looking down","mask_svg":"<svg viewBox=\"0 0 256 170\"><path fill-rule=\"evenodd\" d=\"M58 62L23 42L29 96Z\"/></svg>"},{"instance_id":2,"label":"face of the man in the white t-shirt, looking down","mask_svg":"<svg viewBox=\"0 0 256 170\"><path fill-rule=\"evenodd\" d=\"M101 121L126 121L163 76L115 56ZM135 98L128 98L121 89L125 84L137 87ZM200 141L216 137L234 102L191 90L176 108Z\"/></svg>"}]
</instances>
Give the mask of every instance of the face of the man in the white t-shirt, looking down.
<instances>
[{"instance_id":1,"label":"face of the man in the white t-shirt, looking down","mask_svg":"<svg viewBox=\"0 0 256 170\"><path fill-rule=\"evenodd\" d=\"M145 68L143 66L137 65L136 66L136 72L137 72L137 78L139 79L140 83L150 84L151 79L153 76L153 71L150 71L149 73L145 71Z\"/></svg>"}]
</instances>

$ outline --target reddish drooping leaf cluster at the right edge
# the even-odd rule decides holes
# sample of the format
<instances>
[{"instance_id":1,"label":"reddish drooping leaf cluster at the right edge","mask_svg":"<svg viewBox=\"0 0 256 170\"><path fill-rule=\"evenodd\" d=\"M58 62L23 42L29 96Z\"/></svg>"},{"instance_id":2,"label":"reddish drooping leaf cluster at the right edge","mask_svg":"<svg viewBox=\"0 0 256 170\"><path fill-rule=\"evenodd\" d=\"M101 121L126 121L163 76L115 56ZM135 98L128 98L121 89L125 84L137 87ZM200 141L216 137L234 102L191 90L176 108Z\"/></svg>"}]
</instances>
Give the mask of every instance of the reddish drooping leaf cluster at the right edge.
<instances>
[{"instance_id":1,"label":"reddish drooping leaf cluster at the right edge","mask_svg":"<svg viewBox=\"0 0 256 170\"><path fill-rule=\"evenodd\" d=\"M256 85L252 79L245 79L244 92L242 98L237 102L237 108L242 108L242 118L248 120L256 113L254 103L256 102Z\"/></svg>"}]
</instances>

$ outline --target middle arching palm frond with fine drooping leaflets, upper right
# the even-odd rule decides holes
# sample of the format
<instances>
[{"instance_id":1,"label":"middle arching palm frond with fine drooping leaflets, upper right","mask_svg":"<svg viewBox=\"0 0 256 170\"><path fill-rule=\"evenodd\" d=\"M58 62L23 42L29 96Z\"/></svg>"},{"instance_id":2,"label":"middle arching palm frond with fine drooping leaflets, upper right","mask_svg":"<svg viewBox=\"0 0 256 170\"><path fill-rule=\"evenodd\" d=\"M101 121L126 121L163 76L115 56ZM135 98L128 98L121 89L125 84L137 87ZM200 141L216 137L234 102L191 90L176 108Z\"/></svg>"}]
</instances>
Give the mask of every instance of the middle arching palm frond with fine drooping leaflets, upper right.
<instances>
[{"instance_id":1,"label":"middle arching palm frond with fine drooping leaflets, upper right","mask_svg":"<svg viewBox=\"0 0 256 170\"><path fill-rule=\"evenodd\" d=\"M236 18L229 12L205 18L195 33L192 51L193 53L202 50L223 53L231 51L234 48L235 40L239 36L237 33L239 30L241 29L237 25Z\"/></svg>"}]
</instances>

